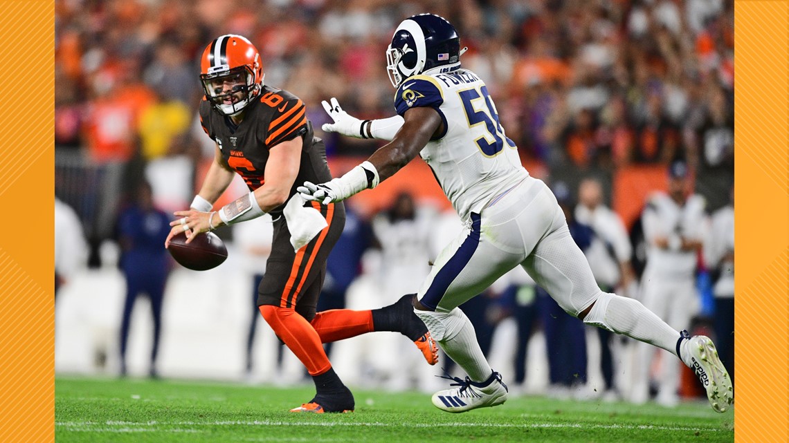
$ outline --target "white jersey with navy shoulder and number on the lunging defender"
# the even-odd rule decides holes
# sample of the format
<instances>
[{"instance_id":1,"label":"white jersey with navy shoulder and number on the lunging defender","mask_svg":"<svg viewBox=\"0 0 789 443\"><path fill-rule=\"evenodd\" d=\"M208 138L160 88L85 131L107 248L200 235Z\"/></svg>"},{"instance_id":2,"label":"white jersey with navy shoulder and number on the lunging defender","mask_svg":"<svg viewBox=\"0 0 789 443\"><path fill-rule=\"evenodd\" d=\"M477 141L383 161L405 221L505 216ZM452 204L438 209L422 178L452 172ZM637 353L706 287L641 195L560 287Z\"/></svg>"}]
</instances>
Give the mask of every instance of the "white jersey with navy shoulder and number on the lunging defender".
<instances>
[{"instance_id":1,"label":"white jersey with navy shoulder and number on the lunging defender","mask_svg":"<svg viewBox=\"0 0 789 443\"><path fill-rule=\"evenodd\" d=\"M397 113L424 106L438 111L444 132L422 149L421 158L463 220L529 177L476 74L458 69L409 77L394 96Z\"/></svg>"}]
</instances>

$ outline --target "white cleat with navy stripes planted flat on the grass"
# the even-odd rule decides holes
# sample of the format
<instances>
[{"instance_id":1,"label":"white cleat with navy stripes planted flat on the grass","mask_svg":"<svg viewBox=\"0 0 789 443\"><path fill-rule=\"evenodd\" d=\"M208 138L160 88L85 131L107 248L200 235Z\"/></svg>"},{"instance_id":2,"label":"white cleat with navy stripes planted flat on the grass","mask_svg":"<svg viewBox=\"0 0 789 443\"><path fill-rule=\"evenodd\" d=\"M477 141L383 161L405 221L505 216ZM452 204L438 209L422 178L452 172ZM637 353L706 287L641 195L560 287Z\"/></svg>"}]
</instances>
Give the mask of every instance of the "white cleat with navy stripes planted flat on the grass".
<instances>
[{"instance_id":1,"label":"white cleat with navy stripes planted flat on the grass","mask_svg":"<svg viewBox=\"0 0 789 443\"><path fill-rule=\"evenodd\" d=\"M458 386L433 394L431 399L433 405L442 411L466 412L477 408L498 406L507 401L509 389L501 381L501 374L498 372L494 372L488 380L481 383L472 382L468 377L465 380L448 375L442 378L454 380L451 386Z\"/></svg>"}]
</instances>

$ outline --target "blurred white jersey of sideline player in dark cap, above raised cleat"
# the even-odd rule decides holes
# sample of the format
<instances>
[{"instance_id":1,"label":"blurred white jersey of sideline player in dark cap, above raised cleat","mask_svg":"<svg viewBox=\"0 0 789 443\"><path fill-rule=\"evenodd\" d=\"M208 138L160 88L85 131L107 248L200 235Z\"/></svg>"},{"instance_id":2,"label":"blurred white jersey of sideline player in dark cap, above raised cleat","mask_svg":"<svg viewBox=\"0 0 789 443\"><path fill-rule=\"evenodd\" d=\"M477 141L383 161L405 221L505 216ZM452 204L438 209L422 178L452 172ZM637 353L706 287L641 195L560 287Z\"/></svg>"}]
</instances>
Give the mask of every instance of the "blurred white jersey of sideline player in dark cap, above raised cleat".
<instances>
[{"instance_id":1,"label":"blurred white jersey of sideline player in dark cap, above raised cleat","mask_svg":"<svg viewBox=\"0 0 789 443\"><path fill-rule=\"evenodd\" d=\"M681 237L703 240L706 217L705 200L701 195L690 195L679 206L664 192L656 192L644 210L644 236L647 262L645 274L659 277L692 277L696 271L696 251L679 249ZM654 240L667 238L669 248L657 248Z\"/></svg>"}]
</instances>

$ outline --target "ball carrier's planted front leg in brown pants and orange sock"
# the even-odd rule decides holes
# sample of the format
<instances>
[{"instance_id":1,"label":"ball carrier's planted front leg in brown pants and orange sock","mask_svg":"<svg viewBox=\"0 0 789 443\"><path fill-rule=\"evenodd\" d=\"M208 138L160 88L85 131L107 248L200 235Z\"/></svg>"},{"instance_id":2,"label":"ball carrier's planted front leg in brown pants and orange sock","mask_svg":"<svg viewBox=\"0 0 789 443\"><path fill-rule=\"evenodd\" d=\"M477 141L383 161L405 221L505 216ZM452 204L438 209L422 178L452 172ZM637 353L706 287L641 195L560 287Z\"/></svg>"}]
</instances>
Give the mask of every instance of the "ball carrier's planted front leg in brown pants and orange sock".
<instances>
[{"instance_id":1,"label":"ball carrier's planted front leg in brown pants and orange sock","mask_svg":"<svg viewBox=\"0 0 789 443\"><path fill-rule=\"evenodd\" d=\"M294 411L342 412L353 410L353 395L331 368L320 336L309 321L315 315L328 252L342 233L344 213L340 203L321 205L320 209L327 219L327 228L295 253L286 222L275 221L271 255L257 303L271 329L305 365L315 382L316 396ZM301 313L297 312L300 303ZM308 312L310 307L312 315Z\"/></svg>"}]
</instances>

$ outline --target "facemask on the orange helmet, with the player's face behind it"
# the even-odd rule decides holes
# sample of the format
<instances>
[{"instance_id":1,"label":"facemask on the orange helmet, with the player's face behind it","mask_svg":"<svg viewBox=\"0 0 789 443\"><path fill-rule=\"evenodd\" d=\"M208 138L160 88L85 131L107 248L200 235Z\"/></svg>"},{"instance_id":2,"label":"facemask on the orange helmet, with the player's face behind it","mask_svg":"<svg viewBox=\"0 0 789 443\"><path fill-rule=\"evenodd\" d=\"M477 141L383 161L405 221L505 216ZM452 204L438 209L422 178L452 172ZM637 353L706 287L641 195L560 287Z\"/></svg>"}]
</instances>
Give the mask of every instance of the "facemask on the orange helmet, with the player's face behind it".
<instances>
[{"instance_id":1,"label":"facemask on the orange helmet, with the player's face behind it","mask_svg":"<svg viewBox=\"0 0 789 443\"><path fill-rule=\"evenodd\" d=\"M227 116L240 113L260 91L248 66L238 66L217 73L201 74L200 81L208 101Z\"/></svg>"}]
</instances>

